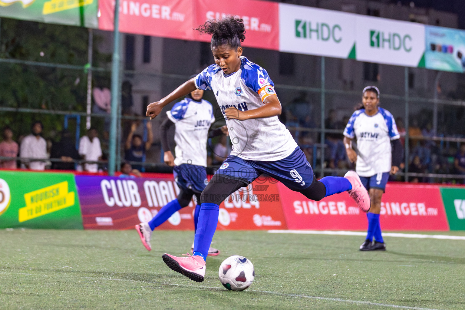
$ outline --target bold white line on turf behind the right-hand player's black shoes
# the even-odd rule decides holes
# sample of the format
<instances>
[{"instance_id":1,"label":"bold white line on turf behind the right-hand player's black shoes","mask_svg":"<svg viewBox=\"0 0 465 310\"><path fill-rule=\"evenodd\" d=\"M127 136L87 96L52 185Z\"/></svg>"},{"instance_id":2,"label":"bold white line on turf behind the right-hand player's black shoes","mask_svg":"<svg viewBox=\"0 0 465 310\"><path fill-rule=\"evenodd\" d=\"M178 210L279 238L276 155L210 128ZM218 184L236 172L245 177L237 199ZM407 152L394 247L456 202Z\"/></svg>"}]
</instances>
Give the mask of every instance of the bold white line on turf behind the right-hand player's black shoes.
<instances>
[{"instance_id":1,"label":"bold white line on turf behind the right-hand player's black shoes","mask_svg":"<svg viewBox=\"0 0 465 310\"><path fill-rule=\"evenodd\" d=\"M303 234L303 235L336 235L336 236L366 236L361 231L300 231L300 230L270 230L271 234ZM404 234L399 232L383 232L383 237L465 240L465 236Z\"/></svg>"}]
</instances>

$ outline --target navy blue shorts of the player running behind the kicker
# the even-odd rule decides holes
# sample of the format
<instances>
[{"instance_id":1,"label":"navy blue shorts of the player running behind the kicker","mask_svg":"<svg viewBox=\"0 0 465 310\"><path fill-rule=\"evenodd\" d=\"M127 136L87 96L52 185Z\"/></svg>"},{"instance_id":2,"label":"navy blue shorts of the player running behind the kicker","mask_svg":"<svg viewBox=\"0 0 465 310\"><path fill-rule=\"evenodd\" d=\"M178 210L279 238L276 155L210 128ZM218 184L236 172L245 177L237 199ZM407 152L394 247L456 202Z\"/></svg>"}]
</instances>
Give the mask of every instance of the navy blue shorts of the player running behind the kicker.
<instances>
[{"instance_id":1,"label":"navy blue shorts of the player running behind the kicker","mask_svg":"<svg viewBox=\"0 0 465 310\"><path fill-rule=\"evenodd\" d=\"M173 167L173 175L179 187L201 193L208 183L204 166L181 164Z\"/></svg>"}]
</instances>

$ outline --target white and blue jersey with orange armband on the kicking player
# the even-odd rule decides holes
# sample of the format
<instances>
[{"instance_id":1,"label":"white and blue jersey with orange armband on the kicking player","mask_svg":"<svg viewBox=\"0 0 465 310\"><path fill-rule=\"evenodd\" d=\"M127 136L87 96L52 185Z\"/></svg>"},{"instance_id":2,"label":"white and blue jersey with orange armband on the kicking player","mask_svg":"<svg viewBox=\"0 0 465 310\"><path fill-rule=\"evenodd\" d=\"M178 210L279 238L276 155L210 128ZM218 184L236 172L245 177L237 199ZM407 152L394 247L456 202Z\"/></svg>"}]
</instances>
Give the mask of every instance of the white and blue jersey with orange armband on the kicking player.
<instances>
[{"instance_id":1,"label":"white and blue jersey with orange armband on the kicking player","mask_svg":"<svg viewBox=\"0 0 465 310\"><path fill-rule=\"evenodd\" d=\"M224 74L218 65L208 66L195 78L195 86L212 90L221 112L236 107L257 109L268 96L275 95L274 83L262 67L241 56L237 72ZM226 118L225 118L226 119ZM231 155L246 160L274 161L286 158L297 147L291 133L277 116L266 119L226 119L233 144Z\"/></svg>"}]
</instances>

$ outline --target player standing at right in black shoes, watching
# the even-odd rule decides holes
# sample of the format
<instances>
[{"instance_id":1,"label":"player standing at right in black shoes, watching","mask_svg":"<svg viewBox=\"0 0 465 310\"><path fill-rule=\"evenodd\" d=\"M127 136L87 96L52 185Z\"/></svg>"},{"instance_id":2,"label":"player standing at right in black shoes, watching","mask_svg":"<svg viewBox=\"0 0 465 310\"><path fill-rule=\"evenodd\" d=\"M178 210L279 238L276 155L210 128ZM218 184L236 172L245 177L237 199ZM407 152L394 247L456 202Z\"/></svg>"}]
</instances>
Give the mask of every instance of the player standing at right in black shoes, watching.
<instances>
[{"instance_id":1,"label":"player standing at right in black shoes, watching","mask_svg":"<svg viewBox=\"0 0 465 310\"><path fill-rule=\"evenodd\" d=\"M381 196L389 173L399 171L403 151L394 117L379 107L379 89L366 86L362 94L363 107L353 112L349 119L344 130L344 144L349 160L357 162L356 171L371 200L370 211L366 214L368 232L360 251L385 251L386 244L379 225ZM352 149L354 138L357 138L358 152Z\"/></svg>"}]
</instances>

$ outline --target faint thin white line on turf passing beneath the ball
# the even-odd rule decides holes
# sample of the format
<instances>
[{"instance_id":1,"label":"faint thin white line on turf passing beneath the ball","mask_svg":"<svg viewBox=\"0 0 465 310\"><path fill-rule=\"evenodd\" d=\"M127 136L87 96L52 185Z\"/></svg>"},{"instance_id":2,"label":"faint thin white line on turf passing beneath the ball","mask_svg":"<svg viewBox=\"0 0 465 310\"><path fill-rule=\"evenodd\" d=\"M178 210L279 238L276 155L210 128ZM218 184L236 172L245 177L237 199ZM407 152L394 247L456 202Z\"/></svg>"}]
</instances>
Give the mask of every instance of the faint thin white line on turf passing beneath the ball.
<instances>
[{"instance_id":1,"label":"faint thin white line on turf passing beneath the ball","mask_svg":"<svg viewBox=\"0 0 465 310\"><path fill-rule=\"evenodd\" d=\"M13 272L6 272L0 271L0 273L13 273ZM166 285L166 286L177 286L177 287L185 287L191 290L205 290L205 289L213 289L213 290L225 290L222 287L215 287L215 286L194 286L195 284L186 285L186 284L170 284L166 282L150 282L150 281L141 281L141 280L130 280L130 279L114 279L114 278L107 278L107 277L79 277L83 279L89 280L104 280L104 281L129 281L129 282L142 282L148 284L159 284L159 285ZM397 304L390 304L390 303L374 303L370 301L364 300L351 300L351 299L342 299L342 298L331 298L331 297L319 297L319 296L307 296L307 295L299 295L299 294L286 294L286 293L279 293L279 292L272 292L268 290L246 290L247 292L255 292L255 293L264 293L264 294L272 294L277 296L283 297L296 297L296 298L307 298L307 299L315 299L315 300L326 300L326 301L334 301L339 303L355 303L355 304L366 304L370 306L380 306L380 307L388 307L388 308L395 308L395 309L411 309L411 310L438 310L438 309L431 309L431 308L421 308L421 307L410 307L410 306L399 306Z\"/></svg>"}]
</instances>

